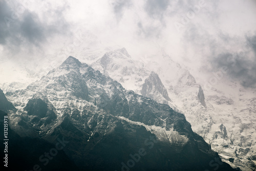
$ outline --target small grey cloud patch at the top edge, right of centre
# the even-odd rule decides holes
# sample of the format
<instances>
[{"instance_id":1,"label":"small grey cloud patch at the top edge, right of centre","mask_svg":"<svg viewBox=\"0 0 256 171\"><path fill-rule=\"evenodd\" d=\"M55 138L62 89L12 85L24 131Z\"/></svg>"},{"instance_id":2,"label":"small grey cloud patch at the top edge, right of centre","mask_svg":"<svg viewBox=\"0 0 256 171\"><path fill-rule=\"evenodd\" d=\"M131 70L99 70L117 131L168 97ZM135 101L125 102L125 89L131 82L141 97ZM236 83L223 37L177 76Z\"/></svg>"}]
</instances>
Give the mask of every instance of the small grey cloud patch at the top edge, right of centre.
<instances>
[{"instance_id":1,"label":"small grey cloud patch at the top edge, right of centre","mask_svg":"<svg viewBox=\"0 0 256 171\"><path fill-rule=\"evenodd\" d=\"M147 0L145 11L149 16L162 20L168 5L169 0Z\"/></svg>"}]
</instances>

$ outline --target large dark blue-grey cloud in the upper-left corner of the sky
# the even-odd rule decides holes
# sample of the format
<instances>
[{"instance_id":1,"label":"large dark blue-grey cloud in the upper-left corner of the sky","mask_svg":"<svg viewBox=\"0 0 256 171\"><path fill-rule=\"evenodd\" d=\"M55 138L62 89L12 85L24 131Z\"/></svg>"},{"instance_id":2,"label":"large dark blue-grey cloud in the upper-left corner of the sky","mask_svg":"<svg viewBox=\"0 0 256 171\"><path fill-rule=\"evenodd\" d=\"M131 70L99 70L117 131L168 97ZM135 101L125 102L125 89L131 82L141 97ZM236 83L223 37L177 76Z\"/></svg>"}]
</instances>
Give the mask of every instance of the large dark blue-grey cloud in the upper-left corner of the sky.
<instances>
[{"instance_id":1,"label":"large dark blue-grey cloud in the upper-left corner of the sky","mask_svg":"<svg viewBox=\"0 0 256 171\"><path fill-rule=\"evenodd\" d=\"M46 20L41 21L37 14L28 11L24 6L20 5L19 9L23 10L19 11L18 8L17 11L12 8L5 1L0 1L0 44L12 52L18 51L22 45L27 48L40 46L53 34L65 34L65 30L68 30L69 26L59 11L46 13L46 18L53 17L55 20L51 25Z\"/></svg>"}]
</instances>

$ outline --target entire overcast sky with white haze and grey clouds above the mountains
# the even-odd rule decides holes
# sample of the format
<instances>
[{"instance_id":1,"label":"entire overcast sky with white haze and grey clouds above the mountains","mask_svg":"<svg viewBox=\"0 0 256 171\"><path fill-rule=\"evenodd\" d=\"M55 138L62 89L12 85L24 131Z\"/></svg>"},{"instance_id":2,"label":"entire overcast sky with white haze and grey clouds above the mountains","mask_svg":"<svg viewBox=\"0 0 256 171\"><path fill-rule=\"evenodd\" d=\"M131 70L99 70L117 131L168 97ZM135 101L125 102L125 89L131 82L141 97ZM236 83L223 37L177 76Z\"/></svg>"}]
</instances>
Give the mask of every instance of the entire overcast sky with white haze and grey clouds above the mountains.
<instances>
[{"instance_id":1,"label":"entire overcast sky with white haze and grey clouds above the mountains","mask_svg":"<svg viewBox=\"0 0 256 171\"><path fill-rule=\"evenodd\" d=\"M253 0L0 0L0 62L38 65L78 46L119 46L135 58L165 52L192 71L228 67L231 79L254 87L255 18Z\"/></svg>"}]
</instances>

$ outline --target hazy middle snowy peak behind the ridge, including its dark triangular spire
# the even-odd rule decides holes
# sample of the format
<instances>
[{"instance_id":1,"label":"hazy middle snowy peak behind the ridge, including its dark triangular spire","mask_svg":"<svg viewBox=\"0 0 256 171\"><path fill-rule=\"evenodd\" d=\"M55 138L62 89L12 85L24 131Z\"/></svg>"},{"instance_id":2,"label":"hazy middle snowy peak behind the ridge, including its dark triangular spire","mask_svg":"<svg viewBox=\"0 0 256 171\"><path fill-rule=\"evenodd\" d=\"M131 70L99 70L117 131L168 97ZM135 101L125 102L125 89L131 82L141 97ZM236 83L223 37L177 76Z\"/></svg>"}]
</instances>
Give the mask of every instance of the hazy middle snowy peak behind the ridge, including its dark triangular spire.
<instances>
[{"instance_id":1,"label":"hazy middle snowy peak behind the ridge, including its dark triangular spire","mask_svg":"<svg viewBox=\"0 0 256 171\"><path fill-rule=\"evenodd\" d=\"M143 96L168 104L178 111L158 74L145 68L143 62L134 60L125 48L105 53L91 66L120 82L125 89L137 94L143 93Z\"/></svg>"}]
</instances>

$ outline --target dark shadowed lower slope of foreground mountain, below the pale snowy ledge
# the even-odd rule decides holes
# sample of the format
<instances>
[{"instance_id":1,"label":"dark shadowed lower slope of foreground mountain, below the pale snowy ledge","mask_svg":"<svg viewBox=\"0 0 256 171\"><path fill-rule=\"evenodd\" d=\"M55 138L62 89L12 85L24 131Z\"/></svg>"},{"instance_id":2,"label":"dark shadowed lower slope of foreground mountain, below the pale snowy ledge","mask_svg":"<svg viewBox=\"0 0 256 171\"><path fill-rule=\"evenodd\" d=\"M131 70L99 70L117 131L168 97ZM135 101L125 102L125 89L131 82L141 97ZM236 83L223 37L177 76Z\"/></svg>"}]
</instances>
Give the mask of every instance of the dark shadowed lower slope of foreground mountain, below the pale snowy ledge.
<instances>
[{"instance_id":1,"label":"dark shadowed lower slope of foreground mountain, below the pale snowy ledge","mask_svg":"<svg viewBox=\"0 0 256 171\"><path fill-rule=\"evenodd\" d=\"M54 140L54 136L63 135L66 139L66 135L74 133L67 144L66 153L72 156L81 170L122 170L122 167L124 170L125 167L131 170L214 170L216 167L211 168L209 163L217 164L212 160L215 158L221 163L218 170L233 170L221 162L218 154L212 152L197 134L193 135L197 141L188 142L184 146L170 144L157 140L144 126L111 115L93 116L94 121L84 130L80 130L80 125L74 124L71 117L63 116L61 124L45 137ZM86 123L87 119L81 121ZM95 122L99 124L93 124ZM93 135L89 137L87 133L92 130Z\"/></svg>"}]
</instances>

